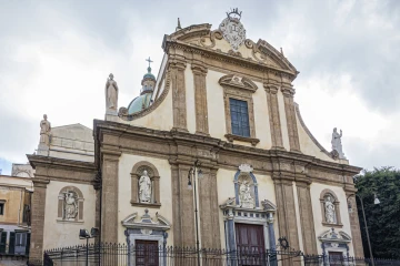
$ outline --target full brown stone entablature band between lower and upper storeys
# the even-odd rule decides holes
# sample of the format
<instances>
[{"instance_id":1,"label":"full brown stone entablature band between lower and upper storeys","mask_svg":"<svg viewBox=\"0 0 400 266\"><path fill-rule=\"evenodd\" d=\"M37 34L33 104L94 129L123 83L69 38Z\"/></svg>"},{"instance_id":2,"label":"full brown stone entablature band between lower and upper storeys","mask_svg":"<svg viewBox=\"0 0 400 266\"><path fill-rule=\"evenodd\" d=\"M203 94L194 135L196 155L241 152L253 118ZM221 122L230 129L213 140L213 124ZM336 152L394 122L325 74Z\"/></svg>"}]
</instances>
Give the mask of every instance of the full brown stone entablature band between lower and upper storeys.
<instances>
[{"instance_id":1,"label":"full brown stone entablature band between lower and upper storeys","mask_svg":"<svg viewBox=\"0 0 400 266\"><path fill-rule=\"evenodd\" d=\"M243 157L247 157L251 158L257 173L271 174L273 172L278 175L282 173L282 176L291 174L296 180L307 174L310 182L337 185L346 183L349 187L353 187L351 176L361 171L357 166L323 161L307 154L243 146L211 136L150 130L111 121L94 120L93 133L97 150L100 150L100 139L102 139L103 146L107 145L123 153L167 158L171 164L187 162L190 164L191 161L189 162L188 158L198 157L217 168L237 170L241 163L250 163L243 161ZM188 147L189 144L190 147ZM207 151L209 155L203 151ZM100 154L97 153L97 165L99 160ZM297 170L294 174L293 162L297 162L297 165L303 165L306 174L301 174L300 170Z\"/></svg>"}]
</instances>

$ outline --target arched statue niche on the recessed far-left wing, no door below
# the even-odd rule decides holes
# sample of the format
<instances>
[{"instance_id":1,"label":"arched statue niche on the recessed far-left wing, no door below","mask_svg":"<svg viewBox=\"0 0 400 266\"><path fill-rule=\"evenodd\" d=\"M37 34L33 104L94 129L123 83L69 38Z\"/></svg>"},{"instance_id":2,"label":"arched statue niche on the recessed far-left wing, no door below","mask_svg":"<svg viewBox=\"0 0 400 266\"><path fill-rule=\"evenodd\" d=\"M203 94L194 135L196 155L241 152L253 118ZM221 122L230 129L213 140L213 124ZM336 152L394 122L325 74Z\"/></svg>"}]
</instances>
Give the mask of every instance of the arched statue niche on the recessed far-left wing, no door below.
<instances>
[{"instance_id":1,"label":"arched statue niche on the recessed far-left wing, no door below","mask_svg":"<svg viewBox=\"0 0 400 266\"><path fill-rule=\"evenodd\" d=\"M59 193L58 219L83 222L83 194L74 186L66 186Z\"/></svg>"}]
</instances>

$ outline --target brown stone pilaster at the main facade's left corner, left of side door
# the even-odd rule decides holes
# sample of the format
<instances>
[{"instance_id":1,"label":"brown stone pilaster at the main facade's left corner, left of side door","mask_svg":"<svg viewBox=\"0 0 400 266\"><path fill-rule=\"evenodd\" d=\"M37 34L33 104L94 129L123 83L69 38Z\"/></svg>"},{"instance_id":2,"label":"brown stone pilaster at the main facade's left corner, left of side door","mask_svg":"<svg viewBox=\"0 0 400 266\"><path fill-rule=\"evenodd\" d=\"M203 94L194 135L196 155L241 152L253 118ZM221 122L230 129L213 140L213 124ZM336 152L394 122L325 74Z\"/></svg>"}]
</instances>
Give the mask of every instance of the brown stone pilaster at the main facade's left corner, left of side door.
<instances>
[{"instance_id":1,"label":"brown stone pilaster at the main facade's left corner, left of side door","mask_svg":"<svg viewBox=\"0 0 400 266\"><path fill-rule=\"evenodd\" d=\"M101 242L118 243L118 164L121 152L102 150Z\"/></svg>"}]
</instances>

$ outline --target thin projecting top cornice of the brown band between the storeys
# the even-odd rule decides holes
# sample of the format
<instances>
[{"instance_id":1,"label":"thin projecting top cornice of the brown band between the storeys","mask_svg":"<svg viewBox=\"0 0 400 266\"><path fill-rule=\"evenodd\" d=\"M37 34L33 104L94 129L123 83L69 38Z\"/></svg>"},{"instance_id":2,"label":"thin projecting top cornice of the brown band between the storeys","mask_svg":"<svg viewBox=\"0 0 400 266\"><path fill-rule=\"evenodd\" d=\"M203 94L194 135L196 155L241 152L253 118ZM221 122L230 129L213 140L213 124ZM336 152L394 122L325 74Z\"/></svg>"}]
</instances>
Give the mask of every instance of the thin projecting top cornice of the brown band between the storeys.
<instances>
[{"instance_id":1,"label":"thin projecting top cornice of the brown band between the storeys","mask_svg":"<svg viewBox=\"0 0 400 266\"><path fill-rule=\"evenodd\" d=\"M329 173L334 173L343 176L352 176L358 174L361 168L352 165L347 164L339 164L334 162L328 162L323 160L319 160L311 155L306 155L301 153L293 153L282 150L263 150L258 147L251 147L251 146L242 146L232 144L226 141L221 141L219 139L214 139L211 136L203 136L203 135L196 135L191 133L184 133L184 132L177 132L177 131L158 131L158 130L150 130L146 127L140 126L132 126L121 123L116 123L111 121L94 121L94 132L96 134L99 134L99 132L103 132L103 134L118 134L120 137L130 137L133 140L140 140L151 143L162 143L164 145L169 146L191 146L194 149L204 149L210 152L213 152L214 154L219 155L227 155L227 156L241 156L251 160L258 160L260 162L268 161L272 164L282 165L282 164L293 164L298 167L307 168L308 171L323 171ZM98 143L96 142L96 146L98 146ZM118 144L119 149L122 151L123 147ZM98 147L96 147L98 149ZM171 150L172 151L172 150ZM169 153L171 153L169 151ZM176 153L176 150L173 150ZM167 152L167 151L166 151ZM149 152L151 153L151 152ZM173 154L170 154L171 156ZM98 155L97 155L98 156ZM198 156L192 154L191 156ZM183 161L191 161L191 156L188 158L179 158L176 157L171 162L174 162L176 160L183 160ZM217 160L218 162L218 160ZM218 162L218 164L224 165L223 162ZM229 165L229 164L228 164ZM227 165L227 166L228 166ZM272 170L259 170L259 171L279 171L278 166L273 167ZM294 173L293 170L286 171L280 170L280 172L287 172L287 173ZM294 173L296 174L296 173ZM298 173L299 178L301 173Z\"/></svg>"}]
</instances>

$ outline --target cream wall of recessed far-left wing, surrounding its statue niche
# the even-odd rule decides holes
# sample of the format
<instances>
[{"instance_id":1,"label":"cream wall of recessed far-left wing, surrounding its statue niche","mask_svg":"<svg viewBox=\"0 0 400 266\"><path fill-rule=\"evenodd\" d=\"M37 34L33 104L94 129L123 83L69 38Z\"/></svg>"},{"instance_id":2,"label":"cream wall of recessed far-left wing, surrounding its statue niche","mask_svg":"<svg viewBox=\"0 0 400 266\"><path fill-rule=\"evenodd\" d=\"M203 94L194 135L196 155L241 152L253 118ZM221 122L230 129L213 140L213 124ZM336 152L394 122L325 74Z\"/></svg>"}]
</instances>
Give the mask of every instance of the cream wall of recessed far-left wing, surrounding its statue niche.
<instances>
[{"instance_id":1,"label":"cream wall of recessed far-left wing, surrounding its statue niche","mask_svg":"<svg viewBox=\"0 0 400 266\"><path fill-rule=\"evenodd\" d=\"M58 221L58 196L64 186L78 187L83 194L83 222ZM46 191L43 249L84 244L79 229L94 227L96 191L92 185L50 181ZM91 239L92 241L92 239Z\"/></svg>"}]
</instances>

